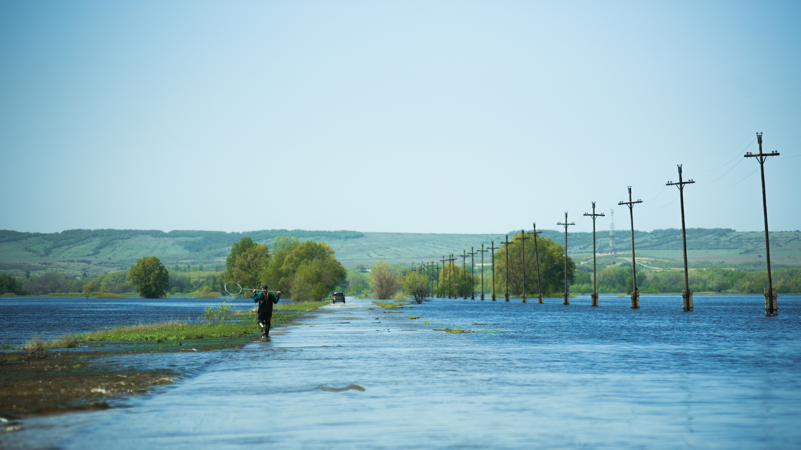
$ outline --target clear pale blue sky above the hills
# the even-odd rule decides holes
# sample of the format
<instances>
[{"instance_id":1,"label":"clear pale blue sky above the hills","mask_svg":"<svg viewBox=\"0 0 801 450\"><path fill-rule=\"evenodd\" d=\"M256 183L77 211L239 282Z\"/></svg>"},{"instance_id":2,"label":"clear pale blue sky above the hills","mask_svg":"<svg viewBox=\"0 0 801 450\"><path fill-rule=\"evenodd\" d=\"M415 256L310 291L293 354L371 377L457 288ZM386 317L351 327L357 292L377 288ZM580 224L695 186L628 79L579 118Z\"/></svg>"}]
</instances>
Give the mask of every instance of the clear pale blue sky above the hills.
<instances>
[{"instance_id":1,"label":"clear pale blue sky above the hills","mask_svg":"<svg viewBox=\"0 0 801 450\"><path fill-rule=\"evenodd\" d=\"M799 2L0 2L0 228L801 228ZM672 203L671 203L672 202ZM599 229L609 227L598 219Z\"/></svg>"}]
</instances>

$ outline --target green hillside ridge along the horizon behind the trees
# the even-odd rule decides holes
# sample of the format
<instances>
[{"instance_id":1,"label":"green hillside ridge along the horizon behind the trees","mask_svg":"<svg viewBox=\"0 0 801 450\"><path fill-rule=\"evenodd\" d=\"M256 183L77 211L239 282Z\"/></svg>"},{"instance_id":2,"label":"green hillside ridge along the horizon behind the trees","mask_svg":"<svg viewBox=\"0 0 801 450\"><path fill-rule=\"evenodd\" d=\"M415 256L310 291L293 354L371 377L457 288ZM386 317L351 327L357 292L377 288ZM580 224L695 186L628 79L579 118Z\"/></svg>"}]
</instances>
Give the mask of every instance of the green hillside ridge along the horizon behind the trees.
<instances>
[{"instance_id":1,"label":"green hillside ridge along the horizon behind the trees","mask_svg":"<svg viewBox=\"0 0 801 450\"><path fill-rule=\"evenodd\" d=\"M510 231L509 235L514 232ZM0 231L0 272L20 275L26 270L96 273L127 269L137 258L156 255L167 265L204 265L220 268L231 244L249 236L259 243L296 235L301 240L328 243L348 267L378 259L419 262L461 255L481 243L496 245L505 235L457 235L425 233L369 233L360 231L261 230L243 233L224 231L67 230L60 233ZM543 236L564 242L564 231L545 230ZM680 230L635 231L638 253L680 259ZM592 233L568 235L570 255L592 252ZM530 241L529 241L530 242ZM598 232L598 252L609 248L609 231ZM690 259L727 263L763 260L764 234L731 229L691 228L687 231ZM630 232L617 231L618 253L630 252ZM481 259L481 255L476 255ZM777 264L801 266L801 232L771 232L771 257ZM485 254L489 258L489 253Z\"/></svg>"}]
</instances>

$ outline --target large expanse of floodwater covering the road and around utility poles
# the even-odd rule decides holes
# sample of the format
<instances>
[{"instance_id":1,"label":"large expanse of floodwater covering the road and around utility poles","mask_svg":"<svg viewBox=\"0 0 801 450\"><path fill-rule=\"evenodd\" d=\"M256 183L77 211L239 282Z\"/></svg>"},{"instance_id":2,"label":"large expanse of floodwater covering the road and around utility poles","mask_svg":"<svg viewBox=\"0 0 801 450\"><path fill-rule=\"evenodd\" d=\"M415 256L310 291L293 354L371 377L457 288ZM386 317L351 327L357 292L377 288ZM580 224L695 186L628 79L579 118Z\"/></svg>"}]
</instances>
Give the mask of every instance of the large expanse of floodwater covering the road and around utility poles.
<instances>
[{"instance_id":1,"label":"large expanse of floodwater covering the road and around utility poles","mask_svg":"<svg viewBox=\"0 0 801 450\"><path fill-rule=\"evenodd\" d=\"M127 408L23 420L0 444L801 447L801 297L780 296L778 317L761 295L697 295L690 313L680 297L643 295L638 310L610 296L545 302L398 313L348 298L243 349L131 356L192 375Z\"/></svg>"}]
</instances>

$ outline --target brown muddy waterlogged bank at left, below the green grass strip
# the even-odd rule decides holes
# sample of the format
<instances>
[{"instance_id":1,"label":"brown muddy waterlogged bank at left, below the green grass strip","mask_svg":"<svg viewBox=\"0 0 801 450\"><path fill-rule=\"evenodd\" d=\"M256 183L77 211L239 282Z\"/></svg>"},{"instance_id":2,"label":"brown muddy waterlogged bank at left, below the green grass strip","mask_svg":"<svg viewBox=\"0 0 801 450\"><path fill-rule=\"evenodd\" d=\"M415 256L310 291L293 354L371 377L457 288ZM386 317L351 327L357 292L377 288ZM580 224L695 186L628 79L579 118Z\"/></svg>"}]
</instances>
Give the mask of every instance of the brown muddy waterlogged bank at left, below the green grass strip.
<instances>
[{"instance_id":1,"label":"brown muddy waterlogged bank at left, below the green grass strip","mask_svg":"<svg viewBox=\"0 0 801 450\"><path fill-rule=\"evenodd\" d=\"M169 368L166 362L163 368L150 368L144 366L151 364L127 356L241 348L257 338L258 334L252 333L233 338L2 352L0 417L14 420L22 416L111 408L111 400L172 384L184 375Z\"/></svg>"}]
</instances>

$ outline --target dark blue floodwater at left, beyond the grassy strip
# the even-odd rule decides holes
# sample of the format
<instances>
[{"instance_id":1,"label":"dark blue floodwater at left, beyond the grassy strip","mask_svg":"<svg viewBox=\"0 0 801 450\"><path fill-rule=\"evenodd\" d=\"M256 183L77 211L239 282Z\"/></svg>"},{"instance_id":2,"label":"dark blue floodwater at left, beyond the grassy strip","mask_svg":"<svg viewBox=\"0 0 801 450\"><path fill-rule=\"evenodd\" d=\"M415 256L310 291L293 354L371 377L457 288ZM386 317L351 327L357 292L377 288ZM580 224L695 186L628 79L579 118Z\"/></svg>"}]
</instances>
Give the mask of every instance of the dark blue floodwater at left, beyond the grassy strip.
<instances>
[{"instance_id":1,"label":"dark blue floodwater at left, beyond the grassy strip","mask_svg":"<svg viewBox=\"0 0 801 450\"><path fill-rule=\"evenodd\" d=\"M166 320L202 321L209 306L223 300L234 309L253 307L252 299L220 297L195 299L87 299L82 296L0 297L0 341L19 346L34 335L51 340L68 333L83 333L117 325L155 323Z\"/></svg>"}]
</instances>

